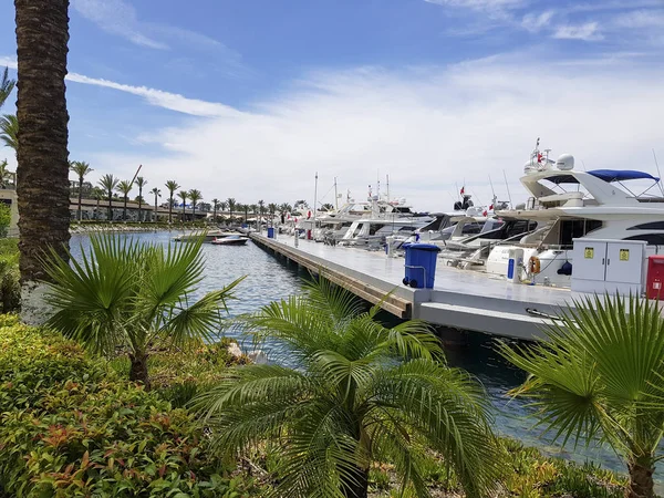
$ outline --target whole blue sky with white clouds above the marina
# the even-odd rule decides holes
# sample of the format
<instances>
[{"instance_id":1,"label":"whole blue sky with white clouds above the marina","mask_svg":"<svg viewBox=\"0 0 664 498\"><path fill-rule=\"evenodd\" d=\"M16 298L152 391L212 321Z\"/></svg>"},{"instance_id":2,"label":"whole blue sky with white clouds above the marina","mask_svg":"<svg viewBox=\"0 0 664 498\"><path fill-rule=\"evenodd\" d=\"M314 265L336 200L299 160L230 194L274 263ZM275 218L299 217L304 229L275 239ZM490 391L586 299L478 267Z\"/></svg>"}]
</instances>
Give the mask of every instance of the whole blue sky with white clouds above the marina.
<instances>
[{"instance_id":1,"label":"whole blue sky with white clouds above the marina","mask_svg":"<svg viewBox=\"0 0 664 498\"><path fill-rule=\"evenodd\" d=\"M15 76L13 2L0 66ZM71 0L70 158L204 199L515 204L536 141L664 167L664 0ZM13 113L14 96L2 113ZM13 152L0 149L15 165ZM134 193L137 195L137 191Z\"/></svg>"}]
</instances>

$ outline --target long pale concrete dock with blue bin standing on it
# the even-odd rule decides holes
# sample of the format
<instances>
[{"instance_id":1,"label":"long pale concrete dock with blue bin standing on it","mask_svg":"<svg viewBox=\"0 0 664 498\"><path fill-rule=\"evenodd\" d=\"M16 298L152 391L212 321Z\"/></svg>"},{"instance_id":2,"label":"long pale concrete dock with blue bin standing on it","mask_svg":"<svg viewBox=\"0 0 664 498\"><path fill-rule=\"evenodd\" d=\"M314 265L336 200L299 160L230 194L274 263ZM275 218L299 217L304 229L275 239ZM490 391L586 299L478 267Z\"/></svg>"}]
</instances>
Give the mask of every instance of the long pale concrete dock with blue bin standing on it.
<instances>
[{"instance_id":1,"label":"long pale concrete dock with blue bin standing on it","mask_svg":"<svg viewBox=\"0 0 664 498\"><path fill-rule=\"evenodd\" d=\"M404 258L302 239L295 248L294 237L287 235L278 235L276 239L260 234L250 237L264 250L323 274L401 319L539 340L544 338L546 325L552 323L548 317L558 314L572 300L569 289L515 284L486 273L446 267L440 261L434 289L412 289L402 282Z\"/></svg>"}]
</instances>

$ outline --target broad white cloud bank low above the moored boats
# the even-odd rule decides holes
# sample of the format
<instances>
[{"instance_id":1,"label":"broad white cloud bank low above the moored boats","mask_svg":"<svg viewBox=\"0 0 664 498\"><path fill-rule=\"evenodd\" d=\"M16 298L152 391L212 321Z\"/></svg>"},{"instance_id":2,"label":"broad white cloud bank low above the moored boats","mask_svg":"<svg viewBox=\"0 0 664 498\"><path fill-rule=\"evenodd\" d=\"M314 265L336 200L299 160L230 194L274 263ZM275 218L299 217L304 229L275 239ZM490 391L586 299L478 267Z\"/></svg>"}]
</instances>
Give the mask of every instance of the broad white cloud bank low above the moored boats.
<instances>
[{"instance_id":1,"label":"broad white cloud bank low above the moored boats","mask_svg":"<svg viewBox=\"0 0 664 498\"><path fill-rule=\"evenodd\" d=\"M572 153L591 168L639 168L663 148L663 73L629 61L570 66L530 54L393 73L380 69L321 72L260 112L197 120L139 137L163 153L107 152L87 157L98 174L128 176L144 165L151 184L177 179L206 198L293 201L319 198L339 177L362 198L376 174L416 208L450 206L455 184L480 201L499 197L502 169L515 200L517 178L535 138L556 157ZM151 147L151 149L153 148ZM332 196L321 201L331 201Z\"/></svg>"}]
</instances>

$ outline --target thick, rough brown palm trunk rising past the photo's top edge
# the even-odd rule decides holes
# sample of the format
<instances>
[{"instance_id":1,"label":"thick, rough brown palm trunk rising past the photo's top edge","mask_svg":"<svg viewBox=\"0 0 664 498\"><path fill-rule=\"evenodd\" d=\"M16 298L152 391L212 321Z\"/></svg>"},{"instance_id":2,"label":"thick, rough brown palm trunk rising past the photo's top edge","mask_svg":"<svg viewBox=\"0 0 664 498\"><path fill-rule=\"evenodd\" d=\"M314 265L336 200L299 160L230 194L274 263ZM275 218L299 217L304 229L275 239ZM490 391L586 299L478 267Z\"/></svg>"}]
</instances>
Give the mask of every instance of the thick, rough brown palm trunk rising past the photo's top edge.
<instances>
[{"instance_id":1,"label":"thick, rough brown palm trunk rising past the photo's top edge","mask_svg":"<svg viewBox=\"0 0 664 498\"><path fill-rule=\"evenodd\" d=\"M18 46L18 207L21 282L46 278L52 247L68 259L70 184L64 76L69 0L14 0ZM35 303L37 304L37 303Z\"/></svg>"}]
</instances>

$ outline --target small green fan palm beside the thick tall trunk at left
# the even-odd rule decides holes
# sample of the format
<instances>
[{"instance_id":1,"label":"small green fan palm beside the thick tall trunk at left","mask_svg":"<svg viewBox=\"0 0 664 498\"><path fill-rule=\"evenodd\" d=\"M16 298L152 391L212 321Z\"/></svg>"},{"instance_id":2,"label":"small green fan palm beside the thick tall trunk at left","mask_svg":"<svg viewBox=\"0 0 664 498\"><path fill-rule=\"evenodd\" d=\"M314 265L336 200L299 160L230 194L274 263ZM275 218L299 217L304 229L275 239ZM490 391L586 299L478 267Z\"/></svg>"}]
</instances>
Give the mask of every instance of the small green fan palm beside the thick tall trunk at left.
<instances>
[{"instance_id":1,"label":"small green fan palm beside the thick tall trunk at left","mask_svg":"<svg viewBox=\"0 0 664 498\"><path fill-rule=\"evenodd\" d=\"M54 283L49 325L90 350L126 351L129 378L149 388L151 347L199 344L219 330L236 280L190 302L204 276L203 237L165 248L118 235L93 235L90 251L70 266L55 253L46 269Z\"/></svg>"}]
</instances>

